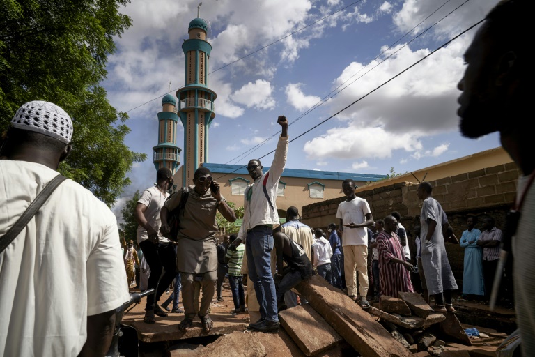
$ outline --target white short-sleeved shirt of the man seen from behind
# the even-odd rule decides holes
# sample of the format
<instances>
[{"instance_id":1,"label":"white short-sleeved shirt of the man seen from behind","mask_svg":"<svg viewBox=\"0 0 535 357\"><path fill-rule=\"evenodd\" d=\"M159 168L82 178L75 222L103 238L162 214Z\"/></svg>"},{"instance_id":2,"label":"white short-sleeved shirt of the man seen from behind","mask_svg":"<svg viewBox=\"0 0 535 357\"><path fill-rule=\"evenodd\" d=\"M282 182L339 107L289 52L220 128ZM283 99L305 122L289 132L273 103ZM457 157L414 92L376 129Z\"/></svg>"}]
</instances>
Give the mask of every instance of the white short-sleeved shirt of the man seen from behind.
<instances>
[{"instance_id":1,"label":"white short-sleeved shirt of the man seen from behind","mask_svg":"<svg viewBox=\"0 0 535 357\"><path fill-rule=\"evenodd\" d=\"M0 160L0 236L58 172ZM65 180L0 253L0 356L77 356L87 316L129 300L114 213Z\"/></svg>"}]
</instances>

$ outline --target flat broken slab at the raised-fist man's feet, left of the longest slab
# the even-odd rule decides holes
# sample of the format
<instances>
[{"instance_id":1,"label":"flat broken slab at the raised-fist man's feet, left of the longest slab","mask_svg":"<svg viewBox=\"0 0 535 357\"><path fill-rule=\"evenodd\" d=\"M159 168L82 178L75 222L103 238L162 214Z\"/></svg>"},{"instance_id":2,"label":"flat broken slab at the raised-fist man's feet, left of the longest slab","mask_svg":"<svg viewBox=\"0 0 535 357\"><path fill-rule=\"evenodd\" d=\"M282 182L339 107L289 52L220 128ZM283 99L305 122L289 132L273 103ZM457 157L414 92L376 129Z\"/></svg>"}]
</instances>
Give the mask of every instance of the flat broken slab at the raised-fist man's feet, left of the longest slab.
<instances>
[{"instance_id":1,"label":"flat broken slab at the raised-fist man's feet, left of the longest slab","mask_svg":"<svg viewBox=\"0 0 535 357\"><path fill-rule=\"evenodd\" d=\"M313 356L339 343L342 337L309 304L279 313L284 330L307 356Z\"/></svg>"}]
</instances>

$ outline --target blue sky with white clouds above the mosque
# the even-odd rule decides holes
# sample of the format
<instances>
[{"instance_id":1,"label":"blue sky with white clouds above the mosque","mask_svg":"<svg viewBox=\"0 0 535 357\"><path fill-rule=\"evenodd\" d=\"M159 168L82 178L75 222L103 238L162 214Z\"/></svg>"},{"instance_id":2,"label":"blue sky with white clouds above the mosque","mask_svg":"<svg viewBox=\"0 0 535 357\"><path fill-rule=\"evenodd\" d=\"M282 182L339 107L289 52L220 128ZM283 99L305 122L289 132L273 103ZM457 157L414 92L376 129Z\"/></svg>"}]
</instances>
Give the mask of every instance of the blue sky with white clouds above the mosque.
<instances>
[{"instance_id":1,"label":"blue sky with white clouds above the mosque","mask_svg":"<svg viewBox=\"0 0 535 357\"><path fill-rule=\"evenodd\" d=\"M169 82L171 93L184 85L181 45L200 2L132 0L121 9L133 24L116 38L103 86L111 105L130 116L126 144L148 160L129 172L132 185L116 215L136 190L155 182L156 114ZM471 140L458 132L456 86L477 27L402 73L496 3L204 0L210 89L217 93L208 161L270 162L274 139L251 149L277 135L279 115L290 122L290 140L302 135L290 142L286 167L293 169L411 172L499 146L497 134ZM178 135L182 147L181 126Z\"/></svg>"}]
</instances>

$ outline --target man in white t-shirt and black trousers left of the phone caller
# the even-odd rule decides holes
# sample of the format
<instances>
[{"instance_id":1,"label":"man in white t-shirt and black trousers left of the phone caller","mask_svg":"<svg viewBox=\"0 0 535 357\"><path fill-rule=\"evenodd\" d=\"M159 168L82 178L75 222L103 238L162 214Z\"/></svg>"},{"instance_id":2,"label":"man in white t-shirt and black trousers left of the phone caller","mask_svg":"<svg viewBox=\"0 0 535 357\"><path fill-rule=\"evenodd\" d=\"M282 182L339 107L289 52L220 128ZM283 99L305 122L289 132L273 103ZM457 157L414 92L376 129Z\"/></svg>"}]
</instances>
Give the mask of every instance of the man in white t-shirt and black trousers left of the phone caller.
<instances>
[{"instance_id":1,"label":"man in white t-shirt and black trousers left of the phone caller","mask_svg":"<svg viewBox=\"0 0 535 357\"><path fill-rule=\"evenodd\" d=\"M160 317L167 316L167 312L158 305L158 300L177 274L175 248L171 241L160 233L160 227L162 226L160 211L169 196L167 190L173 186L171 170L166 167L158 169L156 182L156 185L144 190L134 209L134 217L139 224L137 227L137 244L150 267L147 289L158 288L155 294L147 296L146 312L143 320L147 324L156 322L155 314ZM164 269L165 273L162 275Z\"/></svg>"}]
</instances>

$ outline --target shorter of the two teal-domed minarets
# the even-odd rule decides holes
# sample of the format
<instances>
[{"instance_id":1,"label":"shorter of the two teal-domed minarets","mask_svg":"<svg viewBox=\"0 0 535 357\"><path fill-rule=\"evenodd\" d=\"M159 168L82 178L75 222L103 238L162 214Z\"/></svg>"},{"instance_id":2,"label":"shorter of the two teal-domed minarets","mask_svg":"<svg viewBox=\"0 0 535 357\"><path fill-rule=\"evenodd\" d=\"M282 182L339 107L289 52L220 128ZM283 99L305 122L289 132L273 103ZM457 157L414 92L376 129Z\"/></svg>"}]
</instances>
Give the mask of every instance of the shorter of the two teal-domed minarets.
<instances>
[{"instance_id":1,"label":"shorter of the two teal-domed minarets","mask_svg":"<svg viewBox=\"0 0 535 357\"><path fill-rule=\"evenodd\" d=\"M176 98L166 94L162 98L162 112L158 113L158 144L153 147L154 167L167 167L175 174L178 165L180 148L176 145L176 124L178 115L175 112Z\"/></svg>"}]
</instances>

